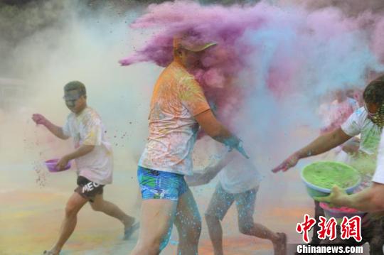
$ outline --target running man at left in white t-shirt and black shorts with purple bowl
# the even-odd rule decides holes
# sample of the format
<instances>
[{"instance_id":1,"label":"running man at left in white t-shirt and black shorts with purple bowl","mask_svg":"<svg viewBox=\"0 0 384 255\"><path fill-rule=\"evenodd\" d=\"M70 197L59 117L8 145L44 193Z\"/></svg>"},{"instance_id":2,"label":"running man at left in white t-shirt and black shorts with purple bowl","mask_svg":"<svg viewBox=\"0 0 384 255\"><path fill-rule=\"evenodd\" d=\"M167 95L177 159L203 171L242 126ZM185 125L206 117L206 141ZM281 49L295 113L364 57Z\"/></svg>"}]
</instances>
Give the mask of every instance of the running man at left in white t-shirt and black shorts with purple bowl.
<instances>
[{"instance_id":1,"label":"running man at left in white t-shirt and black shorts with purple bowl","mask_svg":"<svg viewBox=\"0 0 384 255\"><path fill-rule=\"evenodd\" d=\"M139 227L134 224L134 217L126 215L117 205L103 199L104 186L112 183L112 148L105 138L105 127L100 116L94 109L87 107L85 85L78 81L69 82L64 87L64 100L71 113L63 127L52 124L41 114L32 116L36 124L46 126L58 138L73 138L75 151L63 156L56 167L63 170L73 159L78 167L78 188L65 206L65 217L57 242L49 251L44 251L48 255L60 253L76 227L78 212L87 202L93 210L119 219L124 224L125 239Z\"/></svg>"}]
</instances>

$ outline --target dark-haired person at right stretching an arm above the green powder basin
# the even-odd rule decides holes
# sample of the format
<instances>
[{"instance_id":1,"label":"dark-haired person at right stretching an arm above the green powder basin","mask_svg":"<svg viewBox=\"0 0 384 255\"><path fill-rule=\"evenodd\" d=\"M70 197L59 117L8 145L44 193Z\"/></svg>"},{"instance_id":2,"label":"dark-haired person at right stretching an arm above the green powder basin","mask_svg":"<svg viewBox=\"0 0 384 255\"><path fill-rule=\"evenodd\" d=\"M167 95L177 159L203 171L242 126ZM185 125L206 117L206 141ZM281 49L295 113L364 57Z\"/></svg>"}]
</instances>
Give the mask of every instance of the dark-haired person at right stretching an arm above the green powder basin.
<instances>
[{"instance_id":1,"label":"dark-haired person at right stretching an arm above the green powder basin","mask_svg":"<svg viewBox=\"0 0 384 255\"><path fill-rule=\"evenodd\" d=\"M380 112L380 107L384 102L383 85L384 76L370 82L363 92L365 107L361 107L349 116L349 118L340 127L338 127L338 129L322 134L317 139L309 143L309 145L293 153L292 156L289 156L289 158L283 161L272 171L274 173L277 173L280 170L286 171L289 168L296 166L297 162L301 158L315 156L329 151L332 148L345 143L349 139L353 138L353 136L360 134L361 141L358 153L350 164L361 173L362 183L359 188L368 188L368 186L372 184L371 180L373 178L373 173L375 172L374 162L378 154L380 135L383 130L383 114L378 114L378 112ZM315 201L316 220L319 219L319 216L324 216L324 211L319 206L319 202ZM363 240L365 240L365 242L369 242L371 254L384 254L384 218L372 217L372 215L368 214L364 217L364 219L368 223L362 226L362 233L365 235ZM311 244L319 244L321 242L316 235L318 228L319 226L316 224Z\"/></svg>"}]
</instances>

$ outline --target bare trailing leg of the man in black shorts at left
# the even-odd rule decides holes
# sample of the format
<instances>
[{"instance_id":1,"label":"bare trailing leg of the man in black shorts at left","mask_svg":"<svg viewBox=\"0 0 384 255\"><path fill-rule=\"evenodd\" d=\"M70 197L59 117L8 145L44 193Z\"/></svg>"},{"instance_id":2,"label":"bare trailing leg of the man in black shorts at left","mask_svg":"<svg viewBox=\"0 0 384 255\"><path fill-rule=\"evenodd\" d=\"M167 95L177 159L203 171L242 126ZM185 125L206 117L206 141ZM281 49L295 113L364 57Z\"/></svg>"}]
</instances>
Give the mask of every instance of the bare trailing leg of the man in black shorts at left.
<instances>
[{"instance_id":1,"label":"bare trailing leg of the man in black shorts at left","mask_svg":"<svg viewBox=\"0 0 384 255\"><path fill-rule=\"evenodd\" d=\"M126 215L117 205L104 200L102 194L97 194L90 205L97 212L104 212L106 215L119 219L124 224L124 229L129 229L134 224L134 217Z\"/></svg>"}]
</instances>

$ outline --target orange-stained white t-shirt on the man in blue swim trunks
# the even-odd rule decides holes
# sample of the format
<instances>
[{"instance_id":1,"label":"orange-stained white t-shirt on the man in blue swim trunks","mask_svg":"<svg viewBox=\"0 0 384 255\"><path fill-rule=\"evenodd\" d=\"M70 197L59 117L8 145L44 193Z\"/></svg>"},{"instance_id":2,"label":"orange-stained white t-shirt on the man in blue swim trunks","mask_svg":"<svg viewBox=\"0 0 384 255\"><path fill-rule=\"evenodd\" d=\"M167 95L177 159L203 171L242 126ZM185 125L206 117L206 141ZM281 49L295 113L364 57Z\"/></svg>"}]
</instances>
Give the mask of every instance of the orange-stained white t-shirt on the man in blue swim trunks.
<instances>
[{"instance_id":1,"label":"orange-stained white t-shirt on the man in blue swim trunks","mask_svg":"<svg viewBox=\"0 0 384 255\"><path fill-rule=\"evenodd\" d=\"M173 62L154 87L149 113L149 137L139 166L192 175L192 151L198 122L193 116L210 109L193 75Z\"/></svg>"}]
</instances>

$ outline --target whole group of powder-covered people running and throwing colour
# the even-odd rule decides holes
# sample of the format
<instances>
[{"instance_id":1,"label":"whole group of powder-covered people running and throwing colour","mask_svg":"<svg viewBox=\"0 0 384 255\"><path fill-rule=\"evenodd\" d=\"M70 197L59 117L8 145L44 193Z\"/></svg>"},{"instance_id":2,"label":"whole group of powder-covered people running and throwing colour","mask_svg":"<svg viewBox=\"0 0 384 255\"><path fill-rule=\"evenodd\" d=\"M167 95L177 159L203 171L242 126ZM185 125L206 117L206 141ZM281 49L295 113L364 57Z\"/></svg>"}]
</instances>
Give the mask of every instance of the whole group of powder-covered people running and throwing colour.
<instances>
[{"instance_id":1,"label":"whole group of powder-covered people running and throwing colour","mask_svg":"<svg viewBox=\"0 0 384 255\"><path fill-rule=\"evenodd\" d=\"M205 219L215 255L223 254L223 229L220 222L235 202L239 231L253 237L269 239L274 254L286 254L287 235L274 232L253 220L260 173L247 156L247 144L223 125L208 104L203 88L191 74L200 65L204 50L215 43L191 44L184 38L174 39L174 60L166 67L156 84L150 102L149 136L138 162L137 180L142 194L140 219L126 215L117 205L104 200L103 189L112 183L113 154L105 135L105 126L95 109L87 106L87 93L82 82L69 82L64 87L64 101L70 114L64 126L56 126L41 114L33 114L36 124L46 126L60 139L73 138L75 150L58 161L63 169L75 160L78 187L65 207L60 234L55 245L44 254L60 254L75 229L77 215L87 203L124 224L124 237L139 229L139 239L131 254L159 254L169 242L173 225L178 231L178 254L198 254L201 216L188 185L209 183L218 175ZM283 161L272 172L287 171L309 156L336 150L336 160L354 166L363 182L359 192L346 195L334 187L329 197L314 202L315 217L324 216L319 201L353 207L367 212L363 242L369 242L371 254L383 254L384 210L384 76L360 89L334 92L334 98L322 104L319 114L324 128L320 136ZM223 155L214 166L203 172L193 171L193 147L199 129L223 143ZM366 162L376 162L367 164ZM368 167L369 166L369 167ZM334 243L350 242L336 239ZM311 244L330 243L316 237Z\"/></svg>"}]
</instances>

